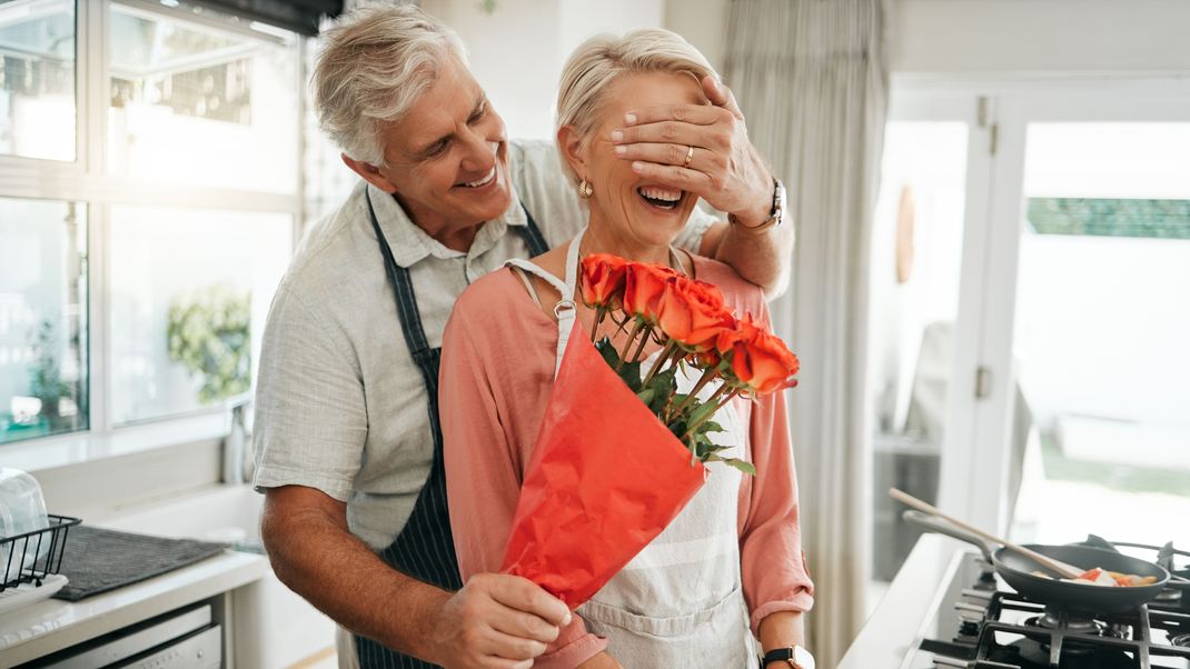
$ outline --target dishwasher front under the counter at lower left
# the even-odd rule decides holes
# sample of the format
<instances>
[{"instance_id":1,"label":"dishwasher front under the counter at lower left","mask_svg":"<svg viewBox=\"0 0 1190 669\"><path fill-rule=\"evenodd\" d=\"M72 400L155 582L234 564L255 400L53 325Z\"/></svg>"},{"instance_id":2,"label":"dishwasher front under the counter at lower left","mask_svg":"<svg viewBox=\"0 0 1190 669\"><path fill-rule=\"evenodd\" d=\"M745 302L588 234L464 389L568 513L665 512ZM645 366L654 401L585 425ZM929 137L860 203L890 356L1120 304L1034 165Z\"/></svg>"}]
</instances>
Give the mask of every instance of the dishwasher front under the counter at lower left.
<instances>
[{"instance_id":1,"label":"dishwasher front under the counter at lower left","mask_svg":"<svg viewBox=\"0 0 1190 669\"><path fill-rule=\"evenodd\" d=\"M218 669L223 626L211 605L173 611L17 669Z\"/></svg>"}]
</instances>

